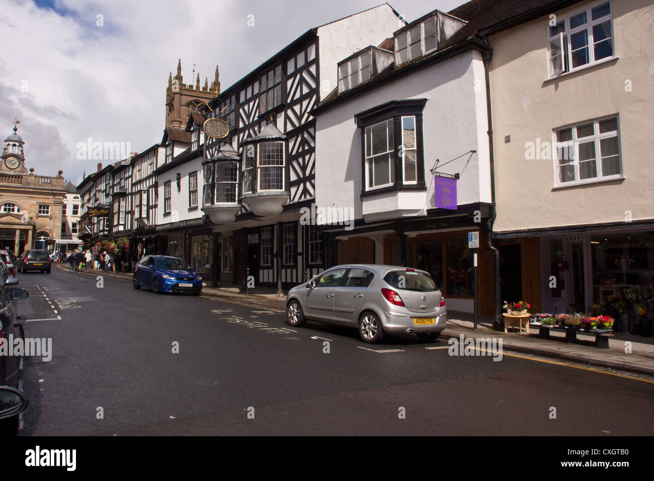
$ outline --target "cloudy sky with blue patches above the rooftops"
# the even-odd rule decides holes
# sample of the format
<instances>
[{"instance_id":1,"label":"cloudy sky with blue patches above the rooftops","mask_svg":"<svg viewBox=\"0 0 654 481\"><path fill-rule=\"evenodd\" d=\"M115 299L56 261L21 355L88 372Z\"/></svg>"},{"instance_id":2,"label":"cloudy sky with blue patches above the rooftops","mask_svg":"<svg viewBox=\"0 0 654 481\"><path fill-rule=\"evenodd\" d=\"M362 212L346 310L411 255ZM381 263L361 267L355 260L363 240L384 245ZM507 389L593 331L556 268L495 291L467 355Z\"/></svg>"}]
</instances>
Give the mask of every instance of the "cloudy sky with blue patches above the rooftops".
<instances>
[{"instance_id":1,"label":"cloudy sky with blue patches above the rooftops","mask_svg":"<svg viewBox=\"0 0 654 481\"><path fill-rule=\"evenodd\" d=\"M142 152L162 140L165 89L179 58L184 83L195 84L195 63L201 86L205 77L211 85L218 65L226 90L311 27L379 3L0 0L0 139L18 118L26 167L56 175L59 164L78 184L99 162L78 158L78 143ZM411 22L465 2L389 3Z\"/></svg>"}]
</instances>

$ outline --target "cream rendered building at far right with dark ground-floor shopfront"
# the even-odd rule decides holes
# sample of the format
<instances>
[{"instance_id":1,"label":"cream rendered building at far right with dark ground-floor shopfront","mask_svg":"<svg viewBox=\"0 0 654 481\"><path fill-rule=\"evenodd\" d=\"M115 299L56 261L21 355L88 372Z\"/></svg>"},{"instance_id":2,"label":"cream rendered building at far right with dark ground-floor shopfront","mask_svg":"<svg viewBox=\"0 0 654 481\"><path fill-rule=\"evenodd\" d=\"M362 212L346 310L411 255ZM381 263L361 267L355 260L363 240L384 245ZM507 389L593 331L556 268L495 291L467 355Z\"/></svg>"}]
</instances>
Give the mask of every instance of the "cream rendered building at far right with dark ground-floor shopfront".
<instances>
[{"instance_id":1,"label":"cream rendered building at far right with dark ground-floor shopfront","mask_svg":"<svg viewBox=\"0 0 654 481\"><path fill-rule=\"evenodd\" d=\"M480 32L493 49L494 243L504 300L589 312L653 283L654 5L549 4Z\"/></svg>"}]
</instances>

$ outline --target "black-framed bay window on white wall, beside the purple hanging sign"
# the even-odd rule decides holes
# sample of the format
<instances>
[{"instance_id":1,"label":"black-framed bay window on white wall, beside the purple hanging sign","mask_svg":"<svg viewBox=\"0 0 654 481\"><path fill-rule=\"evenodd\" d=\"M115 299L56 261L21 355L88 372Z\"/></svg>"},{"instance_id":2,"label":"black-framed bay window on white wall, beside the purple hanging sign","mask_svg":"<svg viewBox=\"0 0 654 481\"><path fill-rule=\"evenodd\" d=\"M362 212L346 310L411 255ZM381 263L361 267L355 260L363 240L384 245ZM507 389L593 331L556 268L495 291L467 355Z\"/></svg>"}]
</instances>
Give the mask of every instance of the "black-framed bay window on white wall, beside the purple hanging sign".
<instances>
[{"instance_id":1,"label":"black-framed bay window on white wall, beside the purple hanging sign","mask_svg":"<svg viewBox=\"0 0 654 481\"><path fill-rule=\"evenodd\" d=\"M426 99L392 100L356 114L362 132L362 195L425 190L422 109Z\"/></svg>"}]
</instances>

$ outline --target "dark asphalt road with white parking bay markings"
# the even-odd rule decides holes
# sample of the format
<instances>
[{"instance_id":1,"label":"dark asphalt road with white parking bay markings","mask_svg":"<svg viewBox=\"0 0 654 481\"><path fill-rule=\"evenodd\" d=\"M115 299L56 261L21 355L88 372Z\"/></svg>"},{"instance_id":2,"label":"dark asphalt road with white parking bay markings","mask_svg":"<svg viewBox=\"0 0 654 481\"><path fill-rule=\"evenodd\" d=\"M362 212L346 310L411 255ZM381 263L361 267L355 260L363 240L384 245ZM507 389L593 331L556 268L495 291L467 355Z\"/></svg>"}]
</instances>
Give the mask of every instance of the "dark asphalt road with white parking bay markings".
<instances>
[{"instance_id":1,"label":"dark asphalt road with white parking bay markings","mask_svg":"<svg viewBox=\"0 0 654 481\"><path fill-rule=\"evenodd\" d=\"M450 356L413 336L371 346L356 330L54 266L19 279L26 337L52 339L50 361L24 358L22 436L654 434L642 380Z\"/></svg>"}]
</instances>

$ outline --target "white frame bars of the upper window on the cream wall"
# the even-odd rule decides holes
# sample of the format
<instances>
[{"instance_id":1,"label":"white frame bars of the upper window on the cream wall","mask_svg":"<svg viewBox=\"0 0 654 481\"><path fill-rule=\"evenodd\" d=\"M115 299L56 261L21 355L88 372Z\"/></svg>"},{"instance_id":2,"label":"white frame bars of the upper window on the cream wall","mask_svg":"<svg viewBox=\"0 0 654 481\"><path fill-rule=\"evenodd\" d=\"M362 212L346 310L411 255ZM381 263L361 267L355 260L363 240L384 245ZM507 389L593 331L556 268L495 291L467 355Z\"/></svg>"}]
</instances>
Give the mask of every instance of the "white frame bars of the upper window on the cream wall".
<instances>
[{"instance_id":1,"label":"white frame bars of the upper window on the cream wall","mask_svg":"<svg viewBox=\"0 0 654 481\"><path fill-rule=\"evenodd\" d=\"M602 16L596 20L593 20L593 9L596 9L597 7L600 7L604 4L608 3L609 4L609 9L610 13L608 15ZM579 14L586 14L586 22L579 27L575 27L574 29L570 28L570 18L576 17ZM562 75L564 73L568 72L574 72L579 69L583 69L585 67L589 67L590 65L595 65L596 63L600 62L606 62L607 60L611 60L613 58L616 58L617 55L615 54L615 31L613 29L613 5L611 3L611 0L602 0L597 3L594 3L593 5L590 5L589 7L583 9L583 10L577 10L576 12L573 12L570 15L566 15L563 18L560 18L559 21L565 22L565 29L562 32L556 33L555 35L551 35L550 32L550 25L549 25L549 18L547 22L547 59L548 59L548 65L549 65L549 75L550 77L557 77L559 75ZM593 38L593 27L599 24L604 24L605 22L610 22L611 24L611 49L613 50L612 54L608 57L600 58L598 60L595 60L595 43L594 43L594 38ZM587 32L587 46L586 48L588 49L588 62L583 63L582 65L578 65L577 67L572 67L572 45L570 42L570 38L572 35L575 33L579 33L580 31L586 31ZM601 42L606 41L606 39L602 40ZM552 50L552 44L555 44L559 47L559 52L562 55L562 64L561 64L561 69L555 69L554 63L553 63L553 50ZM579 50L579 49L577 49ZM564 62L563 62L564 60Z\"/></svg>"}]
</instances>

